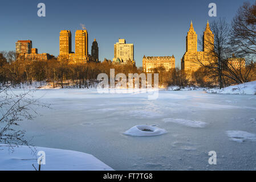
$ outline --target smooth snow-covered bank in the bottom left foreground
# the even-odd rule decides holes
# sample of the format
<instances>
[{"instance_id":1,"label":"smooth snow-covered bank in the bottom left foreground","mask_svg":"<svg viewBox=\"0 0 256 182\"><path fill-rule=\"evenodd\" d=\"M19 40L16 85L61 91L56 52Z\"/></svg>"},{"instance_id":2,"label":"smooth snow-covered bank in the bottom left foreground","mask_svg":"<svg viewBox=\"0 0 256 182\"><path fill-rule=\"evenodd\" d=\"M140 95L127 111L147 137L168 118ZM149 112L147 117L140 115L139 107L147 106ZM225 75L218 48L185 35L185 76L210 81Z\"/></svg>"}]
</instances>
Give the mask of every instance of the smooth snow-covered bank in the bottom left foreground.
<instances>
[{"instance_id":1,"label":"smooth snow-covered bank in the bottom left foreground","mask_svg":"<svg viewBox=\"0 0 256 182\"><path fill-rule=\"evenodd\" d=\"M36 151L44 151L46 164L41 165L42 171L103 171L113 170L93 155L78 151L61 150L55 148L36 147ZM36 152L36 154L37 154ZM9 152L9 147L0 144L0 171L35 171L32 164L38 169L37 159L40 157L33 154L28 146L18 146L14 152Z\"/></svg>"}]
</instances>

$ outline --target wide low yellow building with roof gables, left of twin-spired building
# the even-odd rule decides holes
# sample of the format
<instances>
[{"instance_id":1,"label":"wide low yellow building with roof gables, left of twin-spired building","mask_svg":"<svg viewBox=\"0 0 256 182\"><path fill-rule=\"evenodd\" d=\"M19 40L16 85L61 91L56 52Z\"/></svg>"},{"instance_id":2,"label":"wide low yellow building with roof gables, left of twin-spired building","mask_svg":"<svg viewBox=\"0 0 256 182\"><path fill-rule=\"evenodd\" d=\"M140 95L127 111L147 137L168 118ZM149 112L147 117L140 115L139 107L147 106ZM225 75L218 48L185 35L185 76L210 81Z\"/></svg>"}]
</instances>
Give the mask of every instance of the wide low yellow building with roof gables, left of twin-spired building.
<instances>
[{"instance_id":1,"label":"wide low yellow building with roof gables, left of twin-spired building","mask_svg":"<svg viewBox=\"0 0 256 182\"><path fill-rule=\"evenodd\" d=\"M172 56L145 56L142 60L143 71L145 73L151 73L155 68L165 68L165 71L175 68L175 57Z\"/></svg>"}]
</instances>

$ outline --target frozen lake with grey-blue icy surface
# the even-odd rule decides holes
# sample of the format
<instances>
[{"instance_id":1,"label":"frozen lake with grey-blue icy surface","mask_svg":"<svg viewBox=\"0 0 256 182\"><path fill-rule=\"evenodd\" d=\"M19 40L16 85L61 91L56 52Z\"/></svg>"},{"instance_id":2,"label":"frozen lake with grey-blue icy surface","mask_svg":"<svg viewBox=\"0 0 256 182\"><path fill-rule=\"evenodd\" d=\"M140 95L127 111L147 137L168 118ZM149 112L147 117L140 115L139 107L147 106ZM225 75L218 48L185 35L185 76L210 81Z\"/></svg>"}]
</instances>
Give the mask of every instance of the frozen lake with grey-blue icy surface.
<instances>
[{"instance_id":1,"label":"frozen lake with grey-blue icy surface","mask_svg":"<svg viewBox=\"0 0 256 182\"><path fill-rule=\"evenodd\" d=\"M147 94L86 89L35 94L52 107L23 124L35 146L86 152L115 170L256 170L256 95L161 90L157 100L148 100ZM167 133L123 134L135 125ZM217 152L216 165L208 164L209 151Z\"/></svg>"}]
</instances>

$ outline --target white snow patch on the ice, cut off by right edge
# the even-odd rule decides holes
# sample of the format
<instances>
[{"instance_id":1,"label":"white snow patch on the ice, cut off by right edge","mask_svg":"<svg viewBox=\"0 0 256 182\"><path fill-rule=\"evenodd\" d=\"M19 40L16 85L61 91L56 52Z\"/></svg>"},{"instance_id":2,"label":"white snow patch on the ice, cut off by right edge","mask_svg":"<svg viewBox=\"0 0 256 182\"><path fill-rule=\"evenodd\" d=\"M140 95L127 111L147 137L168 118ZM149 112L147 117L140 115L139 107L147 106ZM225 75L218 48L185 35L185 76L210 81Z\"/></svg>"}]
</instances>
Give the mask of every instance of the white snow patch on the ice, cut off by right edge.
<instances>
[{"instance_id":1,"label":"white snow patch on the ice, cut off by right edge","mask_svg":"<svg viewBox=\"0 0 256 182\"><path fill-rule=\"evenodd\" d=\"M256 141L256 135L246 131L226 131L226 134L235 142L244 142L245 140Z\"/></svg>"}]
</instances>

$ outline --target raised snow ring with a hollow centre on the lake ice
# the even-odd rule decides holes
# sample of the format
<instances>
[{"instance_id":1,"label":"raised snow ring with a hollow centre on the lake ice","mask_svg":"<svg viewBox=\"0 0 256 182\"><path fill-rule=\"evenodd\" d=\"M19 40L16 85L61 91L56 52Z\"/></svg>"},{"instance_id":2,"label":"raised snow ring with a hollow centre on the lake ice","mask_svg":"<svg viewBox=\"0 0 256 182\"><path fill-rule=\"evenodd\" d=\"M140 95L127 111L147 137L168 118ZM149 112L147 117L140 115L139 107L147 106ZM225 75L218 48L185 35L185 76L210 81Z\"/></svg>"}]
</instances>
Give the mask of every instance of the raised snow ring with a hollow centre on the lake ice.
<instances>
[{"instance_id":1,"label":"raised snow ring with a hollow centre on the lake ice","mask_svg":"<svg viewBox=\"0 0 256 182\"><path fill-rule=\"evenodd\" d=\"M156 135L165 134L166 131L164 129L160 129L159 127L155 126L148 126L148 125L136 125L131 127L131 129L125 131L125 135L131 136L139 136L139 137L150 137Z\"/></svg>"}]
</instances>

